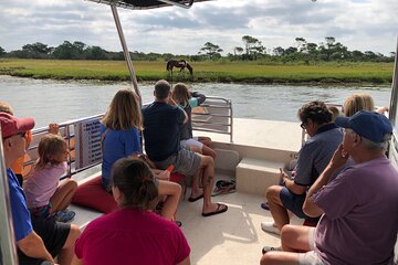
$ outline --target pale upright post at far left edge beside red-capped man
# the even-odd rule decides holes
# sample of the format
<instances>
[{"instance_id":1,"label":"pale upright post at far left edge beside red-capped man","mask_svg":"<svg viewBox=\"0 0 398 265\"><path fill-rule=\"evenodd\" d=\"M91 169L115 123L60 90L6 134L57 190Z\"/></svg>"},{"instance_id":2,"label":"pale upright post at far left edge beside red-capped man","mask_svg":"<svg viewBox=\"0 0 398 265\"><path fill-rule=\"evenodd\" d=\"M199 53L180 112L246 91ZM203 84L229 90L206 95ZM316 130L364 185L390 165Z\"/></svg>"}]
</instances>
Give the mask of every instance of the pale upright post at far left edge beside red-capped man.
<instances>
[{"instance_id":1,"label":"pale upright post at far left edge beside red-capped man","mask_svg":"<svg viewBox=\"0 0 398 265\"><path fill-rule=\"evenodd\" d=\"M4 149L2 145L2 131L0 125L0 242L2 264L18 264L15 239L12 225L12 213L10 203L10 191L6 171Z\"/></svg>"}]
</instances>

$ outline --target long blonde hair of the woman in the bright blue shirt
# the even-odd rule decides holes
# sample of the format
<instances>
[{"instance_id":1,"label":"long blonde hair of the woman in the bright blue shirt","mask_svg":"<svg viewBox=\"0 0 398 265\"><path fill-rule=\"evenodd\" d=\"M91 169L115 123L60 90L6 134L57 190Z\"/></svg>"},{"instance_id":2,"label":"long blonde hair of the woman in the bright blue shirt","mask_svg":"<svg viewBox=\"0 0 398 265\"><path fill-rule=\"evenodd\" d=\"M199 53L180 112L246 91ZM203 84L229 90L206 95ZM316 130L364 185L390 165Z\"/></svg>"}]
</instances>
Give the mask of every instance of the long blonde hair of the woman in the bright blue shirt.
<instances>
[{"instance_id":1,"label":"long blonde hair of the woman in the bright blue shirt","mask_svg":"<svg viewBox=\"0 0 398 265\"><path fill-rule=\"evenodd\" d=\"M132 89L118 91L101 123L113 130L126 130L133 127L143 130L143 118L137 94Z\"/></svg>"}]
</instances>

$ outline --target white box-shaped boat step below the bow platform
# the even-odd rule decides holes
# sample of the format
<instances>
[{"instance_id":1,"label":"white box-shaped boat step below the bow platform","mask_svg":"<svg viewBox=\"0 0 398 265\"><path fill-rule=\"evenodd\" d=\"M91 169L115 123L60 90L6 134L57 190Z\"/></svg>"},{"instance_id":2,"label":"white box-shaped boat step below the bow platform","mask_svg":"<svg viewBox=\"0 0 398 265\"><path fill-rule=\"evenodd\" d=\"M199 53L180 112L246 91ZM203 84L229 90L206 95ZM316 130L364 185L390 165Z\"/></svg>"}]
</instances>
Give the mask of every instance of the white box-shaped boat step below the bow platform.
<instances>
[{"instance_id":1,"label":"white box-shaped boat step below the bow platform","mask_svg":"<svg viewBox=\"0 0 398 265\"><path fill-rule=\"evenodd\" d=\"M237 167L237 190L239 192L264 195L265 189L277 184L282 162L243 158Z\"/></svg>"}]
</instances>

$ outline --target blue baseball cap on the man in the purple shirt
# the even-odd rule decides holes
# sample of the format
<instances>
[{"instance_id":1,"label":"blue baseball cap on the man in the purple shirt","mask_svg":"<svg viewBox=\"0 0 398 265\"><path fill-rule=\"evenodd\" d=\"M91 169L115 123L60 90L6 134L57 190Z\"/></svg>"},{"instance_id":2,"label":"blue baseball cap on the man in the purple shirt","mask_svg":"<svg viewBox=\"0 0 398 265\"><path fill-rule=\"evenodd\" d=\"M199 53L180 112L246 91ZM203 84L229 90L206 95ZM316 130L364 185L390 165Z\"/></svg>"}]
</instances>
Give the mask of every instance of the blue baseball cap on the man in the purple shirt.
<instances>
[{"instance_id":1,"label":"blue baseball cap on the man in the purple shirt","mask_svg":"<svg viewBox=\"0 0 398 265\"><path fill-rule=\"evenodd\" d=\"M387 117L374 112L359 110L349 118L337 117L335 123L374 142L383 142L386 134L392 134L392 126Z\"/></svg>"}]
</instances>

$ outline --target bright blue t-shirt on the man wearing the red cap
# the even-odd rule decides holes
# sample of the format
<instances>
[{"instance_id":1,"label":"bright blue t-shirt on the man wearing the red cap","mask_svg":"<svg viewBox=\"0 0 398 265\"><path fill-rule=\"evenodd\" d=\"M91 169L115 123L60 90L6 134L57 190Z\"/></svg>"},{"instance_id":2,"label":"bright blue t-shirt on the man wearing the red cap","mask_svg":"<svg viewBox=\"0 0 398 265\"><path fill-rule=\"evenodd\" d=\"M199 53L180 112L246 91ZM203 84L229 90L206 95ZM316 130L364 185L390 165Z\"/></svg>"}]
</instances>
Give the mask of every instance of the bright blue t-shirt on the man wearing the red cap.
<instances>
[{"instance_id":1,"label":"bright blue t-shirt on the man wearing the red cap","mask_svg":"<svg viewBox=\"0 0 398 265\"><path fill-rule=\"evenodd\" d=\"M10 190L12 223L14 226L15 241L19 242L32 233L33 227L27 206L27 199L15 174L11 169L8 169L7 176Z\"/></svg>"}]
</instances>

